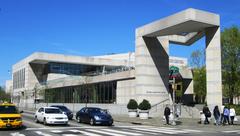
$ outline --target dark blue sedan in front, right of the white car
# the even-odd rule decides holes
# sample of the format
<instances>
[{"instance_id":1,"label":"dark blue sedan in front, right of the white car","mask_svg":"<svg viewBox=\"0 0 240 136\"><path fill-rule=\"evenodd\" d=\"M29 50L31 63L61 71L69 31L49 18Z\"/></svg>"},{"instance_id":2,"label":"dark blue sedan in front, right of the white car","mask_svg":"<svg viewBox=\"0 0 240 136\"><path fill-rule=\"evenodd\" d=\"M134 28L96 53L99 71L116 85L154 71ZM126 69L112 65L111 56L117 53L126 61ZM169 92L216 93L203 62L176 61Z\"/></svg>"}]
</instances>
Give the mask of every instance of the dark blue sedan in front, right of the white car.
<instances>
[{"instance_id":1,"label":"dark blue sedan in front, right of the white car","mask_svg":"<svg viewBox=\"0 0 240 136\"><path fill-rule=\"evenodd\" d=\"M76 113L77 121L89 123L90 125L103 124L111 126L113 124L112 116L103 109L94 107L85 107Z\"/></svg>"}]
</instances>

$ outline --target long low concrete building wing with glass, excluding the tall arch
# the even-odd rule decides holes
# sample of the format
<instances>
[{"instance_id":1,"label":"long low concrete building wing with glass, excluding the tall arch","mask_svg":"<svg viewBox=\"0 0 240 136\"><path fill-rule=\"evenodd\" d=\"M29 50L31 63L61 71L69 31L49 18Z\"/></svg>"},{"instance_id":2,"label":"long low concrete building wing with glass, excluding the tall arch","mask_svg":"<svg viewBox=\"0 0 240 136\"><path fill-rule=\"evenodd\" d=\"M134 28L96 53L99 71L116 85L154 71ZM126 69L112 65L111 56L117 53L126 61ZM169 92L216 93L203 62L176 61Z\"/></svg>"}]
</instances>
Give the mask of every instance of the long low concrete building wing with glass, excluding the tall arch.
<instances>
[{"instance_id":1,"label":"long low concrete building wing with glass, excluding the tall arch","mask_svg":"<svg viewBox=\"0 0 240 136\"><path fill-rule=\"evenodd\" d=\"M192 79L186 59L170 60L171 65L181 66L185 79ZM34 99L50 103L85 103L87 99L88 103L126 104L137 97L134 62L134 53L95 57L34 53L13 66L13 95L23 97L24 104L33 104ZM45 94L41 94L44 90ZM187 92L192 94L193 90Z\"/></svg>"}]
</instances>

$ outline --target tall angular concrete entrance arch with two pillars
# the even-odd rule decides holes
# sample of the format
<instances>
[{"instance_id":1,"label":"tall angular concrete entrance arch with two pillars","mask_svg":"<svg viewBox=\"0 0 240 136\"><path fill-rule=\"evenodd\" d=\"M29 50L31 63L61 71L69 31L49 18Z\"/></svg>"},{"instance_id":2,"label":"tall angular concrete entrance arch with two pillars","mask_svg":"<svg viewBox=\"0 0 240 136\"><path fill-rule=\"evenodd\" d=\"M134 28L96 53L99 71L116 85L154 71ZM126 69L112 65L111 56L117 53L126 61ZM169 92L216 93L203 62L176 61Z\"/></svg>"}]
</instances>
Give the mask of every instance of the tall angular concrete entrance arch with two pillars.
<instances>
[{"instance_id":1,"label":"tall angular concrete entrance arch with two pillars","mask_svg":"<svg viewBox=\"0 0 240 136\"><path fill-rule=\"evenodd\" d=\"M189 46L206 37L207 104L222 105L220 17L196 9L136 29L135 77L138 101L169 99L169 44ZM171 100L170 100L171 103Z\"/></svg>"}]
</instances>

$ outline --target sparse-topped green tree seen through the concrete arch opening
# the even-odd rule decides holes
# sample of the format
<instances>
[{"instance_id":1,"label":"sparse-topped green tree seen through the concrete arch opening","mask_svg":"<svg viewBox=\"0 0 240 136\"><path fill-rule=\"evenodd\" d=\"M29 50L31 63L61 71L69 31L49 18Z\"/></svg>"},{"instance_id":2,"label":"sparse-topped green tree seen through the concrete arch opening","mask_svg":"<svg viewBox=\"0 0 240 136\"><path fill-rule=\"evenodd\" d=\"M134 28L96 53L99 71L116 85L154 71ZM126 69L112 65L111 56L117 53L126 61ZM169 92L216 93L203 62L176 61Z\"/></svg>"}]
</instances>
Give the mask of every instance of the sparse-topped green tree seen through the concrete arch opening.
<instances>
[{"instance_id":1,"label":"sparse-topped green tree seen through the concrete arch opening","mask_svg":"<svg viewBox=\"0 0 240 136\"><path fill-rule=\"evenodd\" d=\"M193 51L190 57L190 64L193 68L193 88L196 103L204 103L206 98L206 66L205 50Z\"/></svg>"}]
</instances>

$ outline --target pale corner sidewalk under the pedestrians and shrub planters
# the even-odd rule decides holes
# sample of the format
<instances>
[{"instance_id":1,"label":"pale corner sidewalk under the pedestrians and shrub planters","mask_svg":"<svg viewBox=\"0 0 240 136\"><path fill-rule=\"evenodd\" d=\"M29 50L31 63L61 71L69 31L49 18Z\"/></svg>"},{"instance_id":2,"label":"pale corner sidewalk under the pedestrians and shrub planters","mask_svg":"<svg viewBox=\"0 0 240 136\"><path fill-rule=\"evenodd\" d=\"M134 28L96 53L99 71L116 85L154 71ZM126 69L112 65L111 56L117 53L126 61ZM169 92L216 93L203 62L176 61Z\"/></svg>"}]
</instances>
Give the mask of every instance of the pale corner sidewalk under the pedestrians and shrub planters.
<instances>
[{"instance_id":1,"label":"pale corner sidewalk under the pedestrians and shrub planters","mask_svg":"<svg viewBox=\"0 0 240 136\"><path fill-rule=\"evenodd\" d=\"M213 124L214 119L211 119L210 124L204 125L199 124L199 119L193 118L180 118L176 121L176 126L164 125L160 117L153 117L146 120L141 120L138 117L129 118L127 115L113 115L115 122L124 122L131 123L135 125L150 125L157 127L174 127L174 128L183 128L183 129L198 129L198 130L208 130L208 131L229 131L229 130L239 130L240 129L240 117L238 116L238 122L235 122L235 125L225 125L225 126L216 126Z\"/></svg>"}]
</instances>

